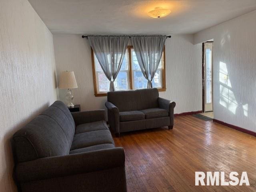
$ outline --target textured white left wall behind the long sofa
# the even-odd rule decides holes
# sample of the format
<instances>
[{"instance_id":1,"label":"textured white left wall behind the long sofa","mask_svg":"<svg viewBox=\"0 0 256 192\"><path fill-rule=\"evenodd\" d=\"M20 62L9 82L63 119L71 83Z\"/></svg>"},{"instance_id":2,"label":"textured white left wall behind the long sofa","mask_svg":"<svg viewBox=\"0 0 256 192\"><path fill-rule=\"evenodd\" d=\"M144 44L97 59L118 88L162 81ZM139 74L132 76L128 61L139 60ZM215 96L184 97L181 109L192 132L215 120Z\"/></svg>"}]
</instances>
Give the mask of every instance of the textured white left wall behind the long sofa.
<instances>
[{"instance_id":1,"label":"textured white left wall behind the long sofa","mask_svg":"<svg viewBox=\"0 0 256 192\"><path fill-rule=\"evenodd\" d=\"M57 99L52 34L27 0L0 0L0 191L14 192L10 138Z\"/></svg>"}]
</instances>

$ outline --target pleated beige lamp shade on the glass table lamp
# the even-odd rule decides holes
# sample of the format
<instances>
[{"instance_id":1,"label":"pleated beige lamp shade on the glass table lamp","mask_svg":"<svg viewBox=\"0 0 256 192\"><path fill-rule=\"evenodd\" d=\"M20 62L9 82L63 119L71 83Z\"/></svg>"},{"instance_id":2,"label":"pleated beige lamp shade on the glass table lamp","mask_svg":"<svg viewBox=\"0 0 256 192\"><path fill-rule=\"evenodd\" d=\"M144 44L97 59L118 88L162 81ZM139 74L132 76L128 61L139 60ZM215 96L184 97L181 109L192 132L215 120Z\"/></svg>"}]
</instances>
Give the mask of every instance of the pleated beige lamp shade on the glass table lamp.
<instances>
[{"instance_id":1,"label":"pleated beige lamp shade on the glass table lamp","mask_svg":"<svg viewBox=\"0 0 256 192\"><path fill-rule=\"evenodd\" d=\"M60 75L59 88L60 89L74 89L77 88L76 77L74 71L62 71Z\"/></svg>"}]
</instances>

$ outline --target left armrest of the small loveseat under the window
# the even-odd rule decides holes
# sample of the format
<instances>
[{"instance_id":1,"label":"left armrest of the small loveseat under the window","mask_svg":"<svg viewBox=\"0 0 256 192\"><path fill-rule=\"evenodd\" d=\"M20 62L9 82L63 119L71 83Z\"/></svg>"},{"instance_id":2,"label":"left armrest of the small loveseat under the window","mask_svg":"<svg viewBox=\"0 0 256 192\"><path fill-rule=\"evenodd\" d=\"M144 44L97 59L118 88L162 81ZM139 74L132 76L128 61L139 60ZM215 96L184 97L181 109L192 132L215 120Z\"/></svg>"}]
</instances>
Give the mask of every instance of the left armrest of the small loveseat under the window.
<instances>
[{"instance_id":1,"label":"left armrest of the small loveseat under the window","mask_svg":"<svg viewBox=\"0 0 256 192\"><path fill-rule=\"evenodd\" d=\"M105 106L108 109L108 123L111 131L120 134L119 109L109 101L105 103Z\"/></svg>"}]
</instances>

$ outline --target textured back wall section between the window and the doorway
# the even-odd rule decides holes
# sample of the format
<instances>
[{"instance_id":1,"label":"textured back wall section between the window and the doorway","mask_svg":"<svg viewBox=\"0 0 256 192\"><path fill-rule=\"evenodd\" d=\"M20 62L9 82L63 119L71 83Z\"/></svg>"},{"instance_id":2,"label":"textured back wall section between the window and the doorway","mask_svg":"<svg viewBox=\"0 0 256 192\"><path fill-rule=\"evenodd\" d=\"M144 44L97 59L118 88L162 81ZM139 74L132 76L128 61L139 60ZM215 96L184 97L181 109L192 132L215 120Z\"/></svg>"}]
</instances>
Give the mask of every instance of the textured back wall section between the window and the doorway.
<instances>
[{"instance_id":1,"label":"textured back wall section between the window and the doorway","mask_svg":"<svg viewBox=\"0 0 256 192\"><path fill-rule=\"evenodd\" d=\"M192 35L166 41L166 91L160 97L176 102L174 113L202 110L202 44Z\"/></svg>"}]
</instances>

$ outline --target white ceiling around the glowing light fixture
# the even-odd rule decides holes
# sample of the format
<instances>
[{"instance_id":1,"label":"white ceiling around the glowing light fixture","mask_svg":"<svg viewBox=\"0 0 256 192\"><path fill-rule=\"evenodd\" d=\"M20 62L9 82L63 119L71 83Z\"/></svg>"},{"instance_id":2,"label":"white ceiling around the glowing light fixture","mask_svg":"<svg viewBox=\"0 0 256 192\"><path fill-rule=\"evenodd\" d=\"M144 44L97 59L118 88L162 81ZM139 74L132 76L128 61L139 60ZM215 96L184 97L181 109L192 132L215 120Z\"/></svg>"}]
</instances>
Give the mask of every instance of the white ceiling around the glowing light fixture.
<instances>
[{"instance_id":1,"label":"white ceiling around the glowing light fixture","mask_svg":"<svg viewBox=\"0 0 256 192\"><path fill-rule=\"evenodd\" d=\"M28 0L53 34L193 34L256 10L256 0ZM150 18L155 7L169 8Z\"/></svg>"}]
</instances>

